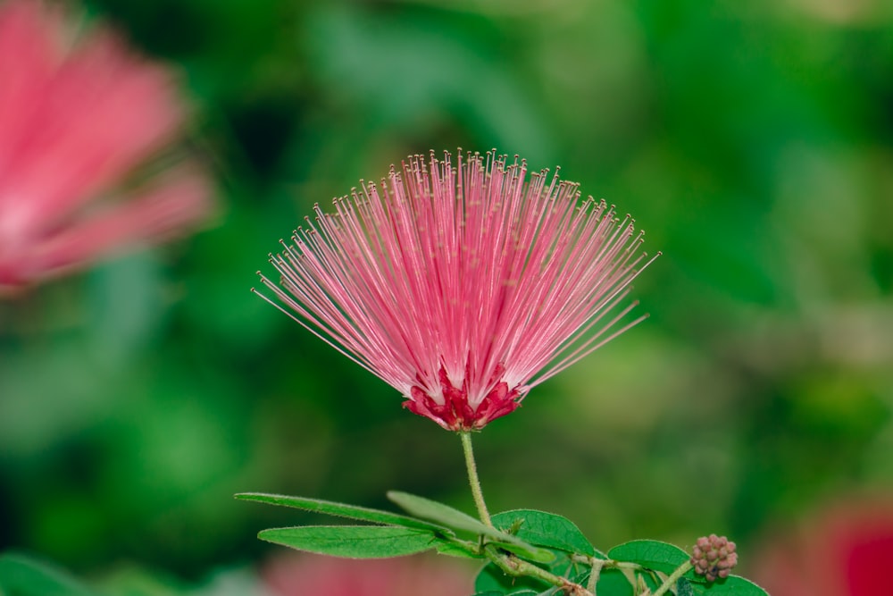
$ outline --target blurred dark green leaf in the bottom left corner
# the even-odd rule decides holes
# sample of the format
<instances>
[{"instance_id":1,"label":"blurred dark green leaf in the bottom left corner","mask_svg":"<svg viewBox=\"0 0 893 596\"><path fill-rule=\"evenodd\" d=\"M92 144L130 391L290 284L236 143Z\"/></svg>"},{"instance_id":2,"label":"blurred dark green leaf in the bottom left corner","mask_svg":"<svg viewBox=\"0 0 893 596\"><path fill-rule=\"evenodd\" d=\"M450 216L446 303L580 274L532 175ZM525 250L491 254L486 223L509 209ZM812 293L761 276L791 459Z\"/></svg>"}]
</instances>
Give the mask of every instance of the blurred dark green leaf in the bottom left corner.
<instances>
[{"instance_id":1,"label":"blurred dark green leaf in the bottom left corner","mask_svg":"<svg viewBox=\"0 0 893 596\"><path fill-rule=\"evenodd\" d=\"M95 596L59 567L17 553L0 555L0 594L5 596Z\"/></svg>"}]
</instances>

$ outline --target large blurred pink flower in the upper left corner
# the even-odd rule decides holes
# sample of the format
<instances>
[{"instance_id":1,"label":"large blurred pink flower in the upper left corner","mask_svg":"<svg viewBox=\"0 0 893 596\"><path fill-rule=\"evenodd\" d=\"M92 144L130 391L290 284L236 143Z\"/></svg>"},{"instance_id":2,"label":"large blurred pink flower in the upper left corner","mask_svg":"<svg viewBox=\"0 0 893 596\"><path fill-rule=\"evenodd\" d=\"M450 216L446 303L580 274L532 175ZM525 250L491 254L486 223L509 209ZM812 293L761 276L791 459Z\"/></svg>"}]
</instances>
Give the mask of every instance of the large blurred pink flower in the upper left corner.
<instances>
[{"instance_id":1,"label":"large blurred pink flower in the upper left corner","mask_svg":"<svg viewBox=\"0 0 893 596\"><path fill-rule=\"evenodd\" d=\"M209 211L194 165L121 189L174 138L185 106L170 72L102 26L76 35L68 16L39 0L0 4L0 290L164 238Z\"/></svg>"}]
</instances>

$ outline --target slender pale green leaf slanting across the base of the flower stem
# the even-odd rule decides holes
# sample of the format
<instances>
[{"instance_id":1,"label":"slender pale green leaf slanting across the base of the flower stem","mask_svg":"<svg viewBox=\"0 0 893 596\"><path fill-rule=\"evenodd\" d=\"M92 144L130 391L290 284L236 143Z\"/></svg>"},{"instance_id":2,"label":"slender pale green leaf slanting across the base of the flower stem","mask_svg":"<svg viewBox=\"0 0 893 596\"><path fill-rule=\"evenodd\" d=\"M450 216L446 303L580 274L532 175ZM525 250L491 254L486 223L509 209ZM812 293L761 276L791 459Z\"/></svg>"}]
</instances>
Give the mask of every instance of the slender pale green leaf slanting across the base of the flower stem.
<instances>
[{"instance_id":1,"label":"slender pale green leaf slanting across the base of the flower stem","mask_svg":"<svg viewBox=\"0 0 893 596\"><path fill-rule=\"evenodd\" d=\"M413 516L430 519L454 530L464 530L487 536L491 542L497 544L500 548L509 550L519 557L538 563L548 563L555 560L555 555L552 552L538 549L512 534L500 532L496 528L484 525L474 517L458 509L451 508L444 503L438 503L435 500L399 491L388 491L388 499L394 501L397 505L413 514Z\"/></svg>"}]
</instances>

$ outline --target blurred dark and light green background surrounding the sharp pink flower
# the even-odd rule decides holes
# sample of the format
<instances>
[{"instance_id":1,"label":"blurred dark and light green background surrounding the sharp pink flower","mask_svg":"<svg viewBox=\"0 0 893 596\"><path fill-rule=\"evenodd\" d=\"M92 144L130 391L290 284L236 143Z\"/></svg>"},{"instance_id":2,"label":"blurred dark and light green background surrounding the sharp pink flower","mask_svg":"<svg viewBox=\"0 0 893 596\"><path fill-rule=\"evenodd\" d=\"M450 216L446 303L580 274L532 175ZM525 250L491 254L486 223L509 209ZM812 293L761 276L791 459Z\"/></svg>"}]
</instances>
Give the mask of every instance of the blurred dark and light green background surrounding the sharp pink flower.
<instances>
[{"instance_id":1,"label":"blurred dark and light green background surrounding the sharp pink flower","mask_svg":"<svg viewBox=\"0 0 893 596\"><path fill-rule=\"evenodd\" d=\"M235 492L471 511L455 436L249 291L314 203L431 148L561 165L664 253L646 323L476 437L491 510L605 549L725 533L747 574L764 536L893 494L888 2L87 8L181 72L221 209L0 301L0 550L235 594L278 552L258 530L322 523Z\"/></svg>"}]
</instances>

